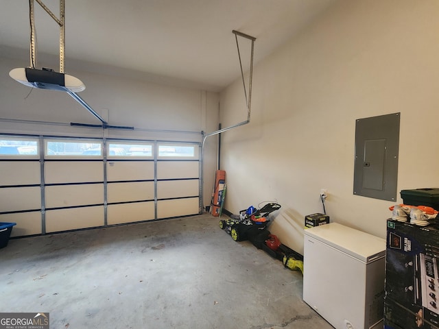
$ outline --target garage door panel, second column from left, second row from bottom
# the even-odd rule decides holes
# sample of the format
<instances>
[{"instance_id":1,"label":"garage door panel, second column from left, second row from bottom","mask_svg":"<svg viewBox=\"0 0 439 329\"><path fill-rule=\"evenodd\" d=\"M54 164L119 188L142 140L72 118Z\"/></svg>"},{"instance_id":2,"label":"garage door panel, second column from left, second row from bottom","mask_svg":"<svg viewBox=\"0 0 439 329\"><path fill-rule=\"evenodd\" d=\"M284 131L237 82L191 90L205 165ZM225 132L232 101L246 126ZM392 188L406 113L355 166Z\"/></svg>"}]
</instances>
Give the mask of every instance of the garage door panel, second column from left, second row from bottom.
<instances>
[{"instance_id":1,"label":"garage door panel, second column from left, second row from bottom","mask_svg":"<svg viewBox=\"0 0 439 329\"><path fill-rule=\"evenodd\" d=\"M104 204L104 184L46 186L46 208Z\"/></svg>"}]
</instances>

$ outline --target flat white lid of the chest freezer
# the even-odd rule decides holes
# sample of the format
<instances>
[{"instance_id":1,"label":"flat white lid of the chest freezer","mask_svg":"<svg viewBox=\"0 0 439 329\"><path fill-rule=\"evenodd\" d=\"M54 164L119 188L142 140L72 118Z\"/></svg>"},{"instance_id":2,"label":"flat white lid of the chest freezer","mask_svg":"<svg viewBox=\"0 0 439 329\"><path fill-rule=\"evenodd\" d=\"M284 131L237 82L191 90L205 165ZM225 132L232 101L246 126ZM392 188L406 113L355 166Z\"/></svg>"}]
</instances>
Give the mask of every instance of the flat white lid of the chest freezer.
<instances>
[{"instance_id":1,"label":"flat white lid of the chest freezer","mask_svg":"<svg viewBox=\"0 0 439 329\"><path fill-rule=\"evenodd\" d=\"M331 245L364 263L377 260L385 256L385 239L348 228L339 223L329 223L305 230L306 236Z\"/></svg>"}]
</instances>

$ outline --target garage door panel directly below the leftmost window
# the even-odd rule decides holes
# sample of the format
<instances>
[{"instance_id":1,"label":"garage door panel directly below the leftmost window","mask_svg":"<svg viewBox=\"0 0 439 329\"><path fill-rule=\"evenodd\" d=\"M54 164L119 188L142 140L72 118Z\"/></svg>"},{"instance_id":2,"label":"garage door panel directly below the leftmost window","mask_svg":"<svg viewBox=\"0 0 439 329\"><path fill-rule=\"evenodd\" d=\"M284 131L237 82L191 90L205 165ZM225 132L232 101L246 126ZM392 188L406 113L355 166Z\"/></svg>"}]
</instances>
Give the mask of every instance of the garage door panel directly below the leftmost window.
<instances>
[{"instance_id":1,"label":"garage door panel directly below the leftmost window","mask_svg":"<svg viewBox=\"0 0 439 329\"><path fill-rule=\"evenodd\" d=\"M0 185L31 185L40 184L40 181L40 162L0 162Z\"/></svg>"}]
</instances>

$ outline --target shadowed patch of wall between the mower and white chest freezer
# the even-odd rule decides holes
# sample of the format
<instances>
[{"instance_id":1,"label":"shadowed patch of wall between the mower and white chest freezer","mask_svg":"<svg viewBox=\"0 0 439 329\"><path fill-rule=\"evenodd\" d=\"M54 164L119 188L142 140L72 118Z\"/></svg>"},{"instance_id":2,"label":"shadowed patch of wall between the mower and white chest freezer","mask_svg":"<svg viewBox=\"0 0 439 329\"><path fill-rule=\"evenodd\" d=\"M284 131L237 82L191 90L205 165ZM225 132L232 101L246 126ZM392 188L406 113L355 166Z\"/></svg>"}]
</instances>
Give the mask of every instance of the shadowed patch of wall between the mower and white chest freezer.
<instances>
[{"instance_id":1,"label":"shadowed patch of wall between the mower and white chest freezer","mask_svg":"<svg viewBox=\"0 0 439 329\"><path fill-rule=\"evenodd\" d=\"M287 208L276 216L270 225L271 234L276 235L281 243L303 255L303 230L305 217L296 210Z\"/></svg>"}]
</instances>

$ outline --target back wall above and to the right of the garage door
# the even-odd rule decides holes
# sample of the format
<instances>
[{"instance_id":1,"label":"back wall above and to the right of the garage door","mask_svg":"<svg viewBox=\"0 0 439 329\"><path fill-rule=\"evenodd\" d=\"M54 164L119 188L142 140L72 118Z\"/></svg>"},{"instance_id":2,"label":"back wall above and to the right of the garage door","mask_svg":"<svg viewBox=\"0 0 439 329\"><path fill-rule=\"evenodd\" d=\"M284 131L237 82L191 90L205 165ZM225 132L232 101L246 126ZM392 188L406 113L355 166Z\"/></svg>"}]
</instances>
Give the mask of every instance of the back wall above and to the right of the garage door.
<instances>
[{"instance_id":1,"label":"back wall above and to the right of the garage door","mask_svg":"<svg viewBox=\"0 0 439 329\"><path fill-rule=\"evenodd\" d=\"M78 95L108 124L134 127L134 131L71 127L71 122L99 125L100 121L67 93L31 92L9 77L11 69L27 65L0 53L0 133L200 142L202 131L217 130L217 93L66 69L84 82L86 90ZM40 67L51 66L39 63ZM204 153L204 204L211 198L216 152L217 139L211 138Z\"/></svg>"}]
</instances>

